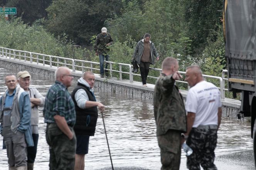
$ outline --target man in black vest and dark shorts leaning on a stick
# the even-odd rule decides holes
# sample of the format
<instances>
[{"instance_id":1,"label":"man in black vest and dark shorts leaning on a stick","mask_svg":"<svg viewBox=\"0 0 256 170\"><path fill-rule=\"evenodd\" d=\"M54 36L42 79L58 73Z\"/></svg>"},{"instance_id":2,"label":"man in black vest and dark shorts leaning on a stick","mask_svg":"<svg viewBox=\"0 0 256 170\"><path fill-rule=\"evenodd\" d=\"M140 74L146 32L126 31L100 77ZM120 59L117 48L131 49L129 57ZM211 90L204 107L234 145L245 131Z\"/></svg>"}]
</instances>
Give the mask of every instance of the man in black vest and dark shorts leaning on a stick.
<instances>
[{"instance_id":1,"label":"man in black vest and dark shorts leaning on a stick","mask_svg":"<svg viewBox=\"0 0 256 170\"><path fill-rule=\"evenodd\" d=\"M74 131L77 138L75 170L84 170L84 155L88 153L89 136L94 136L98 110L103 112L105 106L96 101L93 93L95 76L84 72L79 78L77 87L71 93L76 108L76 124Z\"/></svg>"}]
</instances>

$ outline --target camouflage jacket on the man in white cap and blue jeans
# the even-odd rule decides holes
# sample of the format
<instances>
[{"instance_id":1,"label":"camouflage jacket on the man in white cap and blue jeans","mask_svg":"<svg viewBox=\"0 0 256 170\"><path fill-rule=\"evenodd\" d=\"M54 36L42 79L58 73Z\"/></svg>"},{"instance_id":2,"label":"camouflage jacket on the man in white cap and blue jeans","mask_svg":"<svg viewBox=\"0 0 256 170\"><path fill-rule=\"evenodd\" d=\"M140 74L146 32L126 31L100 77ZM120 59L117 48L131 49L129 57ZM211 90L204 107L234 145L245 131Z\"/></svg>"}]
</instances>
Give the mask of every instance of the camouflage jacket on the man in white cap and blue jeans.
<instances>
[{"instance_id":1,"label":"camouflage jacket on the man in white cap and blue jeans","mask_svg":"<svg viewBox=\"0 0 256 170\"><path fill-rule=\"evenodd\" d=\"M104 36L102 33L98 34L94 43L95 52L106 55L109 51L106 46L108 43L113 43L110 33L106 33L106 36Z\"/></svg>"}]
</instances>

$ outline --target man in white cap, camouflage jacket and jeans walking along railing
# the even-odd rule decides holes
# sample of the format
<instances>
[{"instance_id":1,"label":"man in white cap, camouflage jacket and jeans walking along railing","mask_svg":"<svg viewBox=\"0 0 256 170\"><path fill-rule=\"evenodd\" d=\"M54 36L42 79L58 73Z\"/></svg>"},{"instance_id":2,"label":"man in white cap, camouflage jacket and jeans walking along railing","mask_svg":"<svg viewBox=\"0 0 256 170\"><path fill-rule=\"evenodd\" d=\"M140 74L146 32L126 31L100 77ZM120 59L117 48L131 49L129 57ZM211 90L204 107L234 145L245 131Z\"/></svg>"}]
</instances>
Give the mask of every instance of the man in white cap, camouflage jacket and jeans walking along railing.
<instances>
[{"instance_id":1,"label":"man in white cap, camouflage jacket and jeans walking along railing","mask_svg":"<svg viewBox=\"0 0 256 170\"><path fill-rule=\"evenodd\" d=\"M101 77L104 77L104 58L106 61L109 61L109 49L107 48L109 45L113 43L110 33L107 33L107 28L101 28L101 33L97 35L94 50L96 55L99 55L99 70ZM108 63L105 65L105 69L108 68ZM108 76L108 70L105 71L105 76Z\"/></svg>"}]
</instances>

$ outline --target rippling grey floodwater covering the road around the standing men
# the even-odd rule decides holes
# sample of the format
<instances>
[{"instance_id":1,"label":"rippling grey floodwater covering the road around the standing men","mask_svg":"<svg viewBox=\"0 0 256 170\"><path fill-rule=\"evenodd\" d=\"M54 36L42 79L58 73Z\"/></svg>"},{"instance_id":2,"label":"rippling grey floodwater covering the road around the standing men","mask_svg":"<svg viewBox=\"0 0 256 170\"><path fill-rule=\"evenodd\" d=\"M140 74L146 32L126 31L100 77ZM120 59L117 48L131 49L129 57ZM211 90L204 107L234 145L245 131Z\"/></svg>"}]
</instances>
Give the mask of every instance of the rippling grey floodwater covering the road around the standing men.
<instances>
[{"instance_id":1,"label":"rippling grey floodwater covering the road around the standing men","mask_svg":"<svg viewBox=\"0 0 256 170\"><path fill-rule=\"evenodd\" d=\"M6 89L4 76L8 73L15 72L0 68L1 95ZM45 96L53 82L53 80L38 78L32 74L30 86L36 87ZM75 82L69 90L72 91L74 86ZM95 89L95 95L99 102L106 105L103 116L113 166L119 167L118 169L160 169L160 150L156 138L153 100L129 98L123 94L104 92L100 89ZM34 169L46 170L49 169L49 148L45 140L42 108L39 110L39 143ZM2 148L2 137L0 137L0 148ZM222 118L215 152L218 169L254 169L252 150L250 123L235 118ZM180 169L186 168L185 161L186 157L182 152ZM85 166L87 170L110 169L111 167L101 114L99 114L95 136L90 137ZM8 169L6 150L2 149L0 149L0 169Z\"/></svg>"}]
</instances>

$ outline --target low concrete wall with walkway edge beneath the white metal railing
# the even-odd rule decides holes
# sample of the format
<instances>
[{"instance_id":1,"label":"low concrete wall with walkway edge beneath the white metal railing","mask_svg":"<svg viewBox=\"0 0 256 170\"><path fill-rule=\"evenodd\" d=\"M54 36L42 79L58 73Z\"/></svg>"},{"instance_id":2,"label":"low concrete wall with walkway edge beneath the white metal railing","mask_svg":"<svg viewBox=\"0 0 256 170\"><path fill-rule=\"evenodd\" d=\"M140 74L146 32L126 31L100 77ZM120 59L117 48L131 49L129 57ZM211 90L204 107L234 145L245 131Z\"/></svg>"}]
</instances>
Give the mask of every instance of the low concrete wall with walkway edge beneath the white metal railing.
<instances>
[{"instance_id":1,"label":"low concrete wall with walkway edge beneath the white metal railing","mask_svg":"<svg viewBox=\"0 0 256 170\"><path fill-rule=\"evenodd\" d=\"M54 79L54 72L57 67L50 65L43 65L42 63L20 61L18 59L0 57L0 66L3 68L9 68L12 70L27 70L28 72L38 75L38 77L48 77ZM72 72L74 80L78 80L82 76L81 71ZM96 75L95 88L99 88L103 91L111 91L116 93L126 94L133 98L153 98L153 91L155 85L147 84L147 87L141 85L141 82L130 82L129 80L118 80L117 78L101 78ZM187 97L187 90L181 90L184 100ZM241 101L230 98L221 100L222 102L222 116L224 117L236 117L239 113Z\"/></svg>"}]
</instances>

